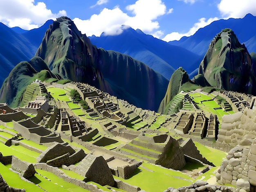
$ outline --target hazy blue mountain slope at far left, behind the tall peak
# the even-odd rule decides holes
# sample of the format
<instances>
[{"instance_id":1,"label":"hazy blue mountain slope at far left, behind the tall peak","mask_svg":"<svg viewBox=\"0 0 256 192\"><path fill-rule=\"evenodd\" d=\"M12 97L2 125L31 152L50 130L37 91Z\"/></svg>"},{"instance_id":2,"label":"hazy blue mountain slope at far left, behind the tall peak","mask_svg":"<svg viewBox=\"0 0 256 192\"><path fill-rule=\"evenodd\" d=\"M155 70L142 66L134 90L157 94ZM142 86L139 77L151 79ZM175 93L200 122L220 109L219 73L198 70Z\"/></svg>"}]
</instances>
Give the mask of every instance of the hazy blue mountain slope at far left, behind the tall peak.
<instances>
[{"instance_id":1,"label":"hazy blue mountain slope at far left, behind the tall peak","mask_svg":"<svg viewBox=\"0 0 256 192\"><path fill-rule=\"evenodd\" d=\"M34 57L51 23L52 20L48 20L42 27L26 31L0 22L0 84L18 63Z\"/></svg>"}]
</instances>

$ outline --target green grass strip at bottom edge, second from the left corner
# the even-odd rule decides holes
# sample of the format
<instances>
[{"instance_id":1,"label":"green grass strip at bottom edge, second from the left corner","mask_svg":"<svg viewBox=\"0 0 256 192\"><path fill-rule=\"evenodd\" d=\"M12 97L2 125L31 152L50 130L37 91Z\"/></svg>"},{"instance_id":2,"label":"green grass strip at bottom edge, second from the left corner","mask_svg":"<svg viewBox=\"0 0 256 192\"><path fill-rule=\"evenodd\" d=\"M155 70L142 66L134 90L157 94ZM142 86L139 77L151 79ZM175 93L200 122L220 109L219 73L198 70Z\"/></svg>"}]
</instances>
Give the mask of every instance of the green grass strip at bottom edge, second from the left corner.
<instances>
[{"instance_id":1,"label":"green grass strip at bottom edge, second from the left corner","mask_svg":"<svg viewBox=\"0 0 256 192\"><path fill-rule=\"evenodd\" d=\"M50 179L51 181L45 179L44 177L35 174L36 181L40 181L38 185L45 189L46 191L61 191L61 192L85 192L88 190L85 190L79 186L76 186L72 183L66 182L63 179L59 178L58 176L54 175L53 173L47 172L45 170L38 170L36 171L47 177L47 179ZM39 182L38 181L38 182Z\"/></svg>"}]
</instances>

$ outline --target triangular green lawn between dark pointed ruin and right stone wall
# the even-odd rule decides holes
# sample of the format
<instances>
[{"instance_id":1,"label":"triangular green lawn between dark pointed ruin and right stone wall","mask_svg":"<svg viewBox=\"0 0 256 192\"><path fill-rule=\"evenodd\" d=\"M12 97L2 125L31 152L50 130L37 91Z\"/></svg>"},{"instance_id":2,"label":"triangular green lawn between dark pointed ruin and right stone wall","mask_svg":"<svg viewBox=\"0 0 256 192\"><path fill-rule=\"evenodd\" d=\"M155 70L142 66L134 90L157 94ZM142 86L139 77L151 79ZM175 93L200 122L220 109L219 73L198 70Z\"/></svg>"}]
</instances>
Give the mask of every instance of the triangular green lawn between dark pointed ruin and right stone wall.
<instances>
[{"instance_id":1,"label":"triangular green lawn between dark pointed ruin and right stone wall","mask_svg":"<svg viewBox=\"0 0 256 192\"><path fill-rule=\"evenodd\" d=\"M200 154L205 157L208 161L213 163L215 166L220 166L223 159L226 157L226 152L213 149L208 146L204 146L198 142L194 142L195 146L200 151Z\"/></svg>"}]
</instances>

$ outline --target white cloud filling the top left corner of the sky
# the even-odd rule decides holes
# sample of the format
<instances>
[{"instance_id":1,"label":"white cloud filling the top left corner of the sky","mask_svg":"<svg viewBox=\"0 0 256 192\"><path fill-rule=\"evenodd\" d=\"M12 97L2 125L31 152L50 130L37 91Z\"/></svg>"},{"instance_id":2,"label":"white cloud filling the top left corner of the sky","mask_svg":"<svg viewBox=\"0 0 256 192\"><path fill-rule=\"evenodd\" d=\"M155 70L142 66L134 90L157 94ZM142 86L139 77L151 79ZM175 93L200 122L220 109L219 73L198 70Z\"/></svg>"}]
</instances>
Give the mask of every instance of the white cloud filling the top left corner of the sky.
<instances>
[{"instance_id":1,"label":"white cloud filling the top left corner of the sky","mask_svg":"<svg viewBox=\"0 0 256 192\"><path fill-rule=\"evenodd\" d=\"M9 27L19 26L22 29L30 30L43 25L46 20L66 15L65 10L52 13L44 2L35 4L34 0L0 1L0 22Z\"/></svg>"}]
</instances>

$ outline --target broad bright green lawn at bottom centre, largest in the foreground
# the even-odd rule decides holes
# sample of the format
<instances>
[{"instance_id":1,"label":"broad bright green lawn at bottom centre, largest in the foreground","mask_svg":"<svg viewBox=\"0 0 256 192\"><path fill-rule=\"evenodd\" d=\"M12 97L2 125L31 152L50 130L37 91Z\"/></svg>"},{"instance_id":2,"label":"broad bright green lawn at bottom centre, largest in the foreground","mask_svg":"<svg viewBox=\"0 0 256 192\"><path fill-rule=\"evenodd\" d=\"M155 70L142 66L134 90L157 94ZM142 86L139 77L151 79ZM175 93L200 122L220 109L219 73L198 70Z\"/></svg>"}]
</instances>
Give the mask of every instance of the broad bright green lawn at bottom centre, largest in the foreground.
<instances>
[{"instance_id":1,"label":"broad bright green lawn at bottom centre, largest in the foreground","mask_svg":"<svg viewBox=\"0 0 256 192\"><path fill-rule=\"evenodd\" d=\"M151 167L149 163L142 163L142 165L153 172L139 167L129 176L129 179L121 179L117 176L114 176L114 178L129 183L130 185L139 186L141 190L148 192L162 192L169 187L179 188L193 183L192 178L181 172L171 171L155 165ZM189 179L191 182L178 179L177 177Z\"/></svg>"}]
</instances>

